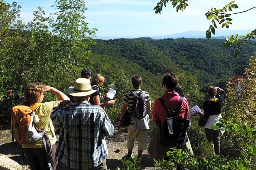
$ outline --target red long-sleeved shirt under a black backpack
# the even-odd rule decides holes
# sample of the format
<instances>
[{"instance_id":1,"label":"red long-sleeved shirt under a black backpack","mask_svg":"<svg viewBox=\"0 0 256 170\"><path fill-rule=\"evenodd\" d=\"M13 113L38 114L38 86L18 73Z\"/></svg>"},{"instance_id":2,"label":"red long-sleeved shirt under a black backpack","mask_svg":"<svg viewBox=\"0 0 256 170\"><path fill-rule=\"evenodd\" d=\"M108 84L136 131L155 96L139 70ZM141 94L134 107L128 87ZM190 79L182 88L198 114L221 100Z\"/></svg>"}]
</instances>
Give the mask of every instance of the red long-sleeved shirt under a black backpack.
<instances>
[{"instance_id":1,"label":"red long-sleeved shirt under a black backpack","mask_svg":"<svg viewBox=\"0 0 256 170\"><path fill-rule=\"evenodd\" d=\"M180 98L179 94L176 92L165 92L162 98L165 101L170 112L175 111ZM189 106L186 98L183 99L178 116L181 117L182 119L188 120ZM155 124L158 124L159 120L161 120L161 122L164 122L165 119L167 118L168 118L168 114L165 108L163 108L160 100L156 99L154 104L154 111L153 111L153 122Z\"/></svg>"}]
</instances>

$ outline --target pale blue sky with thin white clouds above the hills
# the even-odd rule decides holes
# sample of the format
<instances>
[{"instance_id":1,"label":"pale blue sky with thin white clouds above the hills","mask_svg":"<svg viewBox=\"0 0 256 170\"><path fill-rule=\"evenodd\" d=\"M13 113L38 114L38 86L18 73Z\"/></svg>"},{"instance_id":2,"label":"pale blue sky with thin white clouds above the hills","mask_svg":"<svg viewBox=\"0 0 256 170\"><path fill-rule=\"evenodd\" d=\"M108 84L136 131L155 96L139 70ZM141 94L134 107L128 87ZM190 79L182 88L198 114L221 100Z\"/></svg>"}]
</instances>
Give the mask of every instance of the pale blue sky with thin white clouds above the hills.
<instances>
[{"instance_id":1,"label":"pale blue sky with thin white clouds above the hills","mask_svg":"<svg viewBox=\"0 0 256 170\"><path fill-rule=\"evenodd\" d=\"M12 3L13 0L3 0ZM22 6L20 17L26 23L33 19L33 11L38 6L46 14L54 13L51 7L55 0L16 0ZM85 21L89 28L97 28L98 37L152 37L170 35L185 31L206 31L211 24L205 13L212 7L223 8L231 0L188 0L184 11L176 12L168 3L161 14L153 8L160 0L85 0L88 10ZM256 6L256 0L236 0L239 8L232 13L248 10ZM256 8L246 13L231 16L230 30L255 29ZM220 30L221 26L218 26Z\"/></svg>"}]
</instances>

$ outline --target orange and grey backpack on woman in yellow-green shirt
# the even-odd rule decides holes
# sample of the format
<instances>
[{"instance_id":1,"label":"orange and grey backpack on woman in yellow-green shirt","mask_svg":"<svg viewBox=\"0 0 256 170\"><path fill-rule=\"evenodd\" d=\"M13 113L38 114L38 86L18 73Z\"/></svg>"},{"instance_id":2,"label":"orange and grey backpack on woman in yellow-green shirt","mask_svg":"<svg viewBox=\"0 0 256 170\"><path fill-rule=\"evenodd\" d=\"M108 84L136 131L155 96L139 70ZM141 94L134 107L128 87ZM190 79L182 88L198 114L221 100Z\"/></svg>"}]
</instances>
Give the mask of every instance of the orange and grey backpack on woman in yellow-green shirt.
<instances>
[{"instance_id":1,"label":"orange and grey backpack on woman in yellow-green shirt","mask_svg":"<svg viewBox=\"0 0 256 170\"><path fill-rule=\"evenodd\" d=\"M42 103L35 103L31 107L18 105L12 108L13 133L17 142L22 144L31 144L42 139L46 128L43 132L39 132L35 125L36 115L34 112L34 109L38 108L41 104Z\"/></svg>"}]
</instances>

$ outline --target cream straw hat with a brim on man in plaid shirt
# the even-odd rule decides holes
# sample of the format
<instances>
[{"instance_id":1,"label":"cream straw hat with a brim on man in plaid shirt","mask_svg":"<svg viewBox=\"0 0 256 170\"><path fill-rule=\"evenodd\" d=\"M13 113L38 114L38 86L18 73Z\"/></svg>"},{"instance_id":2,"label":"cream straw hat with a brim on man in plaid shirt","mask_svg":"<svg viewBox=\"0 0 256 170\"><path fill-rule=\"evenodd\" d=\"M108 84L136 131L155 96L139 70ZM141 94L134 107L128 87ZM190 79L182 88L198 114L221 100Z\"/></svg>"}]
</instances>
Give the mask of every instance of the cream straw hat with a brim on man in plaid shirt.
<instances>
[{"instance_id":1,"label":"cream straw hat with a brim on man in plaid shirt","mask_svg":"<svg viewBox=\"0 0 256 170\"><path fill-rule=\"evenodd\" d=\"M88 96L96 90L91 89L90 80L87 78L78 78L75 80L74 86L68 88L67 93L71 96Z\"/></svg>"}]
</instances>

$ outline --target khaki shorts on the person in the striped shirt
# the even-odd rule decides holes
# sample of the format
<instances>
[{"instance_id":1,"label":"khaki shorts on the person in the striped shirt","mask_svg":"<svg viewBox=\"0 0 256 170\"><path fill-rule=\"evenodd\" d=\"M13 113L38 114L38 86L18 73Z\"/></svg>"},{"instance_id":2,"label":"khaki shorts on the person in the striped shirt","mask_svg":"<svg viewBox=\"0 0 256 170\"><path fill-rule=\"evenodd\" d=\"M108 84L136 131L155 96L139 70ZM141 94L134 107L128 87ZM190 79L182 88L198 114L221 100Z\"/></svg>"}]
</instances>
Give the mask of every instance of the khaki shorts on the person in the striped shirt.
<instances>
[{"instance_id":1,"label":"khaki shorts on the person in the striped shirt","mask_svg":"<svg viewBox=\"0 0 256 170\"><path fill-rule=\"evenodd\" d=\"M126 147L127 149L132 150L134 148L134 140L138 139L138 150L146 150L148 149L148 133L149 129L134 129L133 125L129 125L128 130L128 138Z\"/></svg>"}]
</instances>

